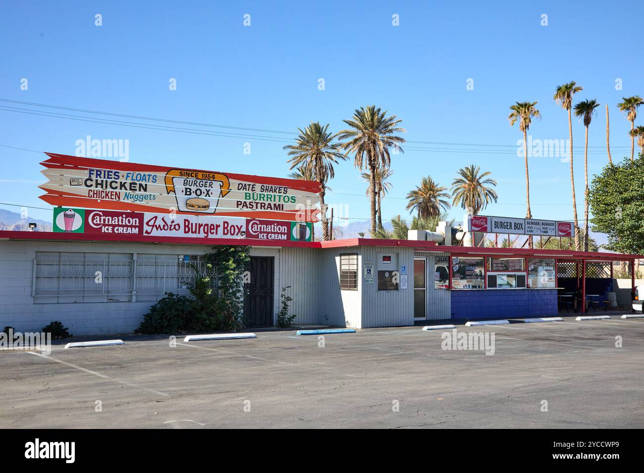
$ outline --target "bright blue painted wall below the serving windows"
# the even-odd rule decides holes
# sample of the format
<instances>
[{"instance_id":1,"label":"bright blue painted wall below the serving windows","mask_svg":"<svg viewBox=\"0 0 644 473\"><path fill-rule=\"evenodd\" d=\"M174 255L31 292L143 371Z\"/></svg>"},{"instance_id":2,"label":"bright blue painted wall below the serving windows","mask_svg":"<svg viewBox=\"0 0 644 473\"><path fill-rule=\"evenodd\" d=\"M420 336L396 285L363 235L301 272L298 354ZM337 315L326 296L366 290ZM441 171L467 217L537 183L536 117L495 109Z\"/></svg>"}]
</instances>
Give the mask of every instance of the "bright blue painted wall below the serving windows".
<instances>
[{"instance_id":1,"label":"bright blue painted wall below the serving windows","mask_svg":"<svg viewBox=\"0 0 644 473\"><path fill-rule=\"evenodd\" d=\"M451 290L453 319L557 315L556 289Z\"/></svg>"}]
</instances>

